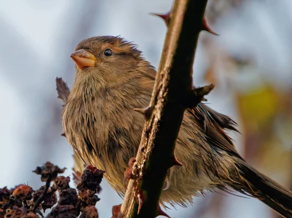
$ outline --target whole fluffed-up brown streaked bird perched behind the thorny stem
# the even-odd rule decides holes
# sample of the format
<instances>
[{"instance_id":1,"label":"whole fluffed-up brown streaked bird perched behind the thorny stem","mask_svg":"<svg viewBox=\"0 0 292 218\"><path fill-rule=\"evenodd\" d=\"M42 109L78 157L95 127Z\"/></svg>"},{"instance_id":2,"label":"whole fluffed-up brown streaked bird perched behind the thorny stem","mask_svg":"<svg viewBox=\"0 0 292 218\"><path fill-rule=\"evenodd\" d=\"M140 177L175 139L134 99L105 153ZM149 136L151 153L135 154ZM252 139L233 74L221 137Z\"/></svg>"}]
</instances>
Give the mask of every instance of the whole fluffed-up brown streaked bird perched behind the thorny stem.
<instances>
[{"instance_id":1,"label":"whole fluffed-up brown streaked bird perched behind the thorny stem","mask_svg":"<svg viewBox=\"0 0 292 218\"><path fill-rule=\"evenodd\" d=\"M135 45L114 36L83 40L71 57L77 67L62 115L66 137L78 157L106 170L107 181L124 195L124 172L145 123L133 109L148 106L156 71ZM183 166L170 168L161 202L186 205L208 190L235 189L292 217L292 193L242 159L225 133L235 126L204 104L185 112L175 148Z\"/></svg>"}]
</instances>

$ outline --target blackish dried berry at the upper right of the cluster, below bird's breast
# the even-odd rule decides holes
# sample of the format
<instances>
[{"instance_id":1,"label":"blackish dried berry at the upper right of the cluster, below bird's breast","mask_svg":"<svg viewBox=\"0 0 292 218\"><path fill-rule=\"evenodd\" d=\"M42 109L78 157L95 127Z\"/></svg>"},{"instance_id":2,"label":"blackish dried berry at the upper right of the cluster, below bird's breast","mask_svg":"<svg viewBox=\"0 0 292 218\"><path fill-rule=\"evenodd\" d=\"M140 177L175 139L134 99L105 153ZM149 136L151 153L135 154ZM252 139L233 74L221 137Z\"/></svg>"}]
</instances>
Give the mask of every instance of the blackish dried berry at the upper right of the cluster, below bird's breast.
<instances>
[{"instance_id":1,"label":"blackish dried berry at the upper right of the cluster, below bird's breast","mask_svg":"<svg viewBox=\"0 0 292 218\"><path fill-rule=\"evenodd\" d=\"M77 189L87 188L94 192L101 190L100 183L105 171L97 169L93 166L88 166L81 177L81 183L77 185Z\"/></svg>"}]
</instances>

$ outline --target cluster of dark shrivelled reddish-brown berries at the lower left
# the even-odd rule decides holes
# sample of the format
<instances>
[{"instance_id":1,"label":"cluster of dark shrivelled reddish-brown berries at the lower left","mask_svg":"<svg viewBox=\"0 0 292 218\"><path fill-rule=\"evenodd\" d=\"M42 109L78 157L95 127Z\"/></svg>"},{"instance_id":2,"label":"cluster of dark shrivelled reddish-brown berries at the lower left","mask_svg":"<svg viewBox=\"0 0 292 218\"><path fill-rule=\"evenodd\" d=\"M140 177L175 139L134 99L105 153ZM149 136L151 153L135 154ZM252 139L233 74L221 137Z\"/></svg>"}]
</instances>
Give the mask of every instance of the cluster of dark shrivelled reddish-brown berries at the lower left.
<instances>
[{"instance_id":1,"label":"cluster of dark shrivelled reddish-brown berries at the lower left","mask_svg":"<svg viewBox=\"0 0 292 218\"><path fill-rule=\"evenodd\" d=\"M70 177L58 176L64 171L65 168L47 162L34 171L46 182L38 190L26 184L13 189L0 188L0 218L43 218L41 211L54 205L46 218L76 218L79 215L80 218L98 218L96 194L101 190L105 171L92 166L86 168L78 178L77 190L70 187ZM51 182L54 182L52 186Z\"/></svg>"}]
</instances>

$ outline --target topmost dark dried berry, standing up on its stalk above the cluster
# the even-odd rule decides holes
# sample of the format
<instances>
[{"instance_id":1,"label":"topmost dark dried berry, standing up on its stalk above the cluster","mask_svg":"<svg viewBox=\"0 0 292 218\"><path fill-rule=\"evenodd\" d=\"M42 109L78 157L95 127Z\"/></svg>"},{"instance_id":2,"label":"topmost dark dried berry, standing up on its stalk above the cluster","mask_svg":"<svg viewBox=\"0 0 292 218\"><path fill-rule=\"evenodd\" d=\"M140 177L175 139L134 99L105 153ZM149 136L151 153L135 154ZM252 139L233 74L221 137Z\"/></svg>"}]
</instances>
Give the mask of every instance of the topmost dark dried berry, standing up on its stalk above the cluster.
<instances>
[{"instance_id":1,"label":"topmost dark dried berry, standing up on its stalk above the cluster","mask_svg":"<svg viewBox=\"0 0 292 218\"><path fill-rule=\"evenodd\" d=\"M50 161L47 161L42 167L37 167L36 170L34 170L33 172L41 175L41 181L46 182L49 177L52 181L54 181L58 173L63 173L65 169L66 168L60 169L58 166L52 164Z\"/></svg>"}]
</instances>

